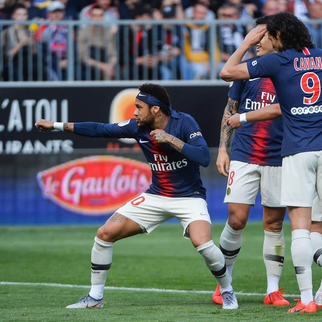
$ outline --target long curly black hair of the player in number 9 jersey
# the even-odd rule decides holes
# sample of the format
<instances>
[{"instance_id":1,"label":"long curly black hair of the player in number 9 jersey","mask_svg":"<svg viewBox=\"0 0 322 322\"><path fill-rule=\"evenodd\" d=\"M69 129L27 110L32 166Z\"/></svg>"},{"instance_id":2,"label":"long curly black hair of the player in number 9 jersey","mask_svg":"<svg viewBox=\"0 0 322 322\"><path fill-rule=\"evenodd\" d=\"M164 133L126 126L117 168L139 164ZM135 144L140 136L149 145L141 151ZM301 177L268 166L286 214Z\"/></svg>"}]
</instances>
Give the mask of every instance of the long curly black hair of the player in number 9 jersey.
<instances>
[{"instance_id":1,"label":"long curly black hair of the player in number 9 jersey","mask_svg":"<svg viewBox=\"0 0 322 322\"><path fill-rule=\"evenodd\" d=\"M301 52L303 47L315 48L308 28L294 14L288 12L274 14L267 23L267 30L275 39L277 38L277 31L280 32L279 37L283 51L294 48Z\"/></svg>"}]
</instances>

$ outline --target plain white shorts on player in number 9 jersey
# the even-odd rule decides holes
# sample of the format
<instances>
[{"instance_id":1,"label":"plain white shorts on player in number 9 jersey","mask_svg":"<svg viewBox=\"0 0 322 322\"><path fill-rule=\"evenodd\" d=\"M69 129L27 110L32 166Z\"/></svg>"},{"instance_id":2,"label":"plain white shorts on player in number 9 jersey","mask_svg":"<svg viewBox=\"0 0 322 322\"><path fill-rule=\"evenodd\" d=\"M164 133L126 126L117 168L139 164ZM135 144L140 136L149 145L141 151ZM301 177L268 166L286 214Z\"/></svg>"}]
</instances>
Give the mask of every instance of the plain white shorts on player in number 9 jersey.
<instances>
[{"instance_id":1,"label":"plain white shorts on player in number 9 jersey","mask_svg":"<svg viewBox=\"0 0 322 322\"><path fill-rule=\"evenodd\" d=\"M315 190L322 204L322 150L283 157L281 203L312 207Z\"/></svg>"}]
</instances>

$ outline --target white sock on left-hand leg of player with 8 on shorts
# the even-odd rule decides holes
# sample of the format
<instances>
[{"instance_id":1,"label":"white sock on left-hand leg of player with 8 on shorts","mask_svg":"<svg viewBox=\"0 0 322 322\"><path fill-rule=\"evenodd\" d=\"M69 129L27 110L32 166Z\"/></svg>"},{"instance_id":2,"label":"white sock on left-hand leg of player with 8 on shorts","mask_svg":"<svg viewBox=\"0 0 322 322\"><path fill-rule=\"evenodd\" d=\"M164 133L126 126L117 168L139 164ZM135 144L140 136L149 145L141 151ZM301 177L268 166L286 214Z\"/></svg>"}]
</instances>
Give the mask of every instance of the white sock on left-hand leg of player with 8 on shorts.
<instances>
[{"instance_id":1,"label":"white sock on left-hand leg of player with 8 on shorts","mask_svg":"<svg viewBox=\"0 0 322 322\"><path fill-rule=\"evenodd\" d=\"M228 221L225 224L223 232L220 235L220 250L222 251L225 263L227 266L234 264L236 257L242 246L242 232L244 230L234 230L228 225ZM232 274L232 267L230 271L230 278Z\"/></svg>"}]
</instances>

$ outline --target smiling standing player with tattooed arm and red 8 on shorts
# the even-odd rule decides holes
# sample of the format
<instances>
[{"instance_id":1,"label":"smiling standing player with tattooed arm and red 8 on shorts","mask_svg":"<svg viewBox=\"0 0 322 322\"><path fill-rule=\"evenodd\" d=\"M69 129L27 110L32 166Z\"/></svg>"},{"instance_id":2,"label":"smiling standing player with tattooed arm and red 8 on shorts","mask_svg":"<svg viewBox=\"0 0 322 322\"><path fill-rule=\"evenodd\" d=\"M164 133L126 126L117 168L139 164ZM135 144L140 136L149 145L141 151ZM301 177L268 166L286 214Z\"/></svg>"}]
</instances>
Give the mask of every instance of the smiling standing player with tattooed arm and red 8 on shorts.
<instances>
[{"instance_id":1,"label":"smiling standing player with tattooed arm and red 8 on shorts","mask_svg":"<svg viewBox=\"0 0 322 322\"><path fill-rule=\"evenodd\" d=\"M271 17L257 19L256 25L266 27ZM256 47L258 57L275 52L267 33ZM246 62L251 60L254 58ZM224 166L227 172L230 171L224 199L224 202L228 203L228 221L220 236L220 249L225 256L232 281L232 268L241 249L242 232L260 187L264 226L263 257L267 274L267 296L264 304L289 305L289 301L283 298L279 289L285 255L282 225L286 211L286 207L280 205L282 120L244 125L235 133L230 164L226 152L232 135L232 127L226 124L227 118L237 110L247 112L276 102L276 91L269 78L234 81L230 85L217 158L219 173L228 176ZM214 303L222 304L219 285L212 299Z\"/></svg>"}]
</instances>

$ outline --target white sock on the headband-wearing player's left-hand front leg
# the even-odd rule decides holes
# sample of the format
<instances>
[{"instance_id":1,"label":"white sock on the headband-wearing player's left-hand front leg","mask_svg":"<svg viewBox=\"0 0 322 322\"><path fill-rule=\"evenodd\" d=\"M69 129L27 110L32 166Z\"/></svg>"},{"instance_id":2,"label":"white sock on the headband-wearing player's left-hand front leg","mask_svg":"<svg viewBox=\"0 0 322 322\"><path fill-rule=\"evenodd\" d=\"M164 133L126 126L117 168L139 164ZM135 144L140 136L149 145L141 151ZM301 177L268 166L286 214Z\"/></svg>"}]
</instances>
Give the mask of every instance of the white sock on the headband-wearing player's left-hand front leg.
<instances>
[{"instance_id":1,"label":"white sock on the headband-wearing player's left-hand front leg","mask_svg":"<svg viewBox=\"0 0 322 322\"><path fill-rule=\"evenodd\" d=\"M106 276L112 263L113 243L104 242L97 236L95 236L94 240L91 257L92 287L90 289L90 297L99 300L103 298Z\"/></svg>"}]
</instances>

